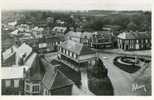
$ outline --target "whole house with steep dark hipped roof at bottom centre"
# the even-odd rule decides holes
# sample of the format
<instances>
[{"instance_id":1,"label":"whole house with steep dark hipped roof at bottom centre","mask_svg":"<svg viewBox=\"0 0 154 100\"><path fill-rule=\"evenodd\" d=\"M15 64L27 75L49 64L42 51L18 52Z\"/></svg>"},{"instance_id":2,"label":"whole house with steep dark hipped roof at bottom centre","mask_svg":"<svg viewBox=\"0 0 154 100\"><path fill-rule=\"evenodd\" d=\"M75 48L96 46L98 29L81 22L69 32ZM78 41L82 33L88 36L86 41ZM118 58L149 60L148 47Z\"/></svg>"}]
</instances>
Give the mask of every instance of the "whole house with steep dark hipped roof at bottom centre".
<instances>
[{"instance_id":1,"label":"whole house with steep dark hipped roof at bottom centre","mask_svg":"<svg viewBox=\"0 0 154 100\"><path fill-rule=\"evenodd\" d=\"M73 82L60 70L51 66L42 80L43 95L71 95Z\"/></svg>"}]
</instances>

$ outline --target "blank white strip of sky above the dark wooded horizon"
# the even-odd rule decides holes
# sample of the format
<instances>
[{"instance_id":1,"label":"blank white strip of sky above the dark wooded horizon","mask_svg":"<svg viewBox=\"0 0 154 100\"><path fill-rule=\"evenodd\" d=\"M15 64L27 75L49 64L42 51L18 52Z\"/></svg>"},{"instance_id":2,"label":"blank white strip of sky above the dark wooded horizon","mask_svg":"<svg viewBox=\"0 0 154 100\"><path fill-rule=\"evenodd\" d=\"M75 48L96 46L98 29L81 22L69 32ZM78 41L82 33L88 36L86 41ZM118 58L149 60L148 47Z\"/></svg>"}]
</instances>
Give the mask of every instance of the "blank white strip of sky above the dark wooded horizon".
<instances>
[{"instance_id":1,"label":"blank white strip of sky above the dark wooded horizon","mask_svg":"<svg viewBox=\"0 0 154 100\"><path fill-rule=\"evenodd\" d=\"M1 9L151 10L152 0L3 0Z\"/></svg>"}]
</instances>

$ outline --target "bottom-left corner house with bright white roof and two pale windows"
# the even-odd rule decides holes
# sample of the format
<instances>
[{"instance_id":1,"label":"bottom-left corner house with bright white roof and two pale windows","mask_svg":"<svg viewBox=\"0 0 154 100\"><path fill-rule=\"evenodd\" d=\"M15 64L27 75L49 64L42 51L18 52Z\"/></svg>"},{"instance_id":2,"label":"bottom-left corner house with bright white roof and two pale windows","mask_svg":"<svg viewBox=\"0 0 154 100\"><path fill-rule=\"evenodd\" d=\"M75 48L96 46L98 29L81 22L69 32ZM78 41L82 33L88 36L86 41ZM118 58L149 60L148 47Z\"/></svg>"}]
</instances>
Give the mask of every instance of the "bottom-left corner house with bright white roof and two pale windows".
<instances>
[{"instance_id":1,"label":"bottom-left corner house with bright white roof and two pale windows","mask_svg":"<svg viewBox=\"0 0 154 100\"><path fill-rule=\"evenodd\" d=\"M2 95L23 95L24 67L1 68Z\"/></svg>"}]
</instances>

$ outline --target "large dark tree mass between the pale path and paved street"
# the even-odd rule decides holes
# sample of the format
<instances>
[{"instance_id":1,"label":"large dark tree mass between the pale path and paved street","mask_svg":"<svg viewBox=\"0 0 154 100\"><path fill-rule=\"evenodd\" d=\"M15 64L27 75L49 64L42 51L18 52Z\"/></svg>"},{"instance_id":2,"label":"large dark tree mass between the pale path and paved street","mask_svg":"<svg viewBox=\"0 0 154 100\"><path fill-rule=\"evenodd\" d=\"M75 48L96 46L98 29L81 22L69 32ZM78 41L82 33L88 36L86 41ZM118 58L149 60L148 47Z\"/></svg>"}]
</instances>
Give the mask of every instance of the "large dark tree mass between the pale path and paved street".
<instances>
[{"instance_id":1,"label":"large dark tree mass between the pale path and paved street","mask_svg":"<svg viewBox=\"0 0 154 100\"><path fill-rule=\"evenodd\" d=\"M95 65L88 70L88 87L95 95L113 95L113 87L110 79L107 76L101 59L96 59Z\"/></svg>"}]
</instances>

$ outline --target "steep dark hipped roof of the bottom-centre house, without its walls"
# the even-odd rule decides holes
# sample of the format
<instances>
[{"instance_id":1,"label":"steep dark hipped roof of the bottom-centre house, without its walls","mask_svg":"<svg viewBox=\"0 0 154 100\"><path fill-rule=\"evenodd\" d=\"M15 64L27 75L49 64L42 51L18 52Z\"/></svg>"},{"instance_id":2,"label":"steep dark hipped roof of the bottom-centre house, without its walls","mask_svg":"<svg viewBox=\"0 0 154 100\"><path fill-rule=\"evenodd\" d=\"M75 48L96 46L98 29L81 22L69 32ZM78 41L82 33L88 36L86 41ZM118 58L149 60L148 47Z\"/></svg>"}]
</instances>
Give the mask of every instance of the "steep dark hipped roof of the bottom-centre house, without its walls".
<instances>
[{"instance_id":1,"label":"steep dark hipped roof of the bottom-centre house, without its walls","mask_svg":"<svg viewBox=\"0 0 154 100\"><path fill-rule=\"evenodd\" d=\"M61 71L55 70L55 68L52 67L45 73L42 83L49 90L62 88L73 84L73 82Z\"/></svg>"}]
</instances>

